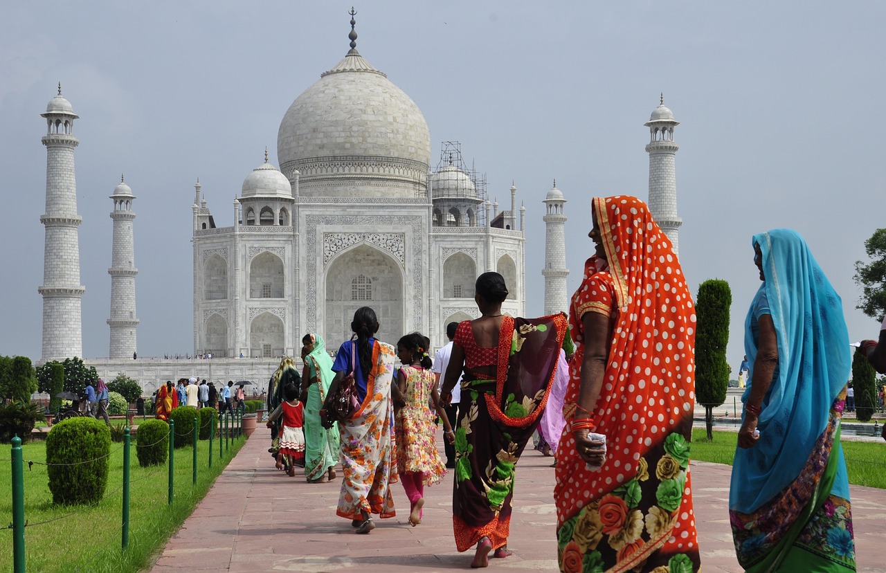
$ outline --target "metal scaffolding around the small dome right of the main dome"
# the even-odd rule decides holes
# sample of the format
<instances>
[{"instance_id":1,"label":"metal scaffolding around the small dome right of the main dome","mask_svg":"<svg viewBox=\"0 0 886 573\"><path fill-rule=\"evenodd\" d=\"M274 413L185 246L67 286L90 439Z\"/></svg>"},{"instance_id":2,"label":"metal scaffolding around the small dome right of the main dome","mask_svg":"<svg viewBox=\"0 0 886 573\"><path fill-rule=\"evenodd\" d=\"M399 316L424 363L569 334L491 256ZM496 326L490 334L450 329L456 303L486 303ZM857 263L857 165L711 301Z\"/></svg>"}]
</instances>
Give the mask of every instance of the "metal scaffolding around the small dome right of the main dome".
<instances>
[{"instance_id":1,"label":"metal scaffolding around the small dome right of the main dome","mask_svg":"<svg viewBox=\"0 0 886 573\"><path fill-rule=\"evenodd\" d=\"M447 176L447 172L455 173ZM434 182L442 179L445 179L446 185L443 189L437 189ZM464 201L476 205L475 225L486 227L486 174L478 173L473 163L470 167L467 165L462 156L462 143L445 141L441 144L440 159L429 177L428 186L428 193L435 204Z\"/></svg>"}]
</instances>

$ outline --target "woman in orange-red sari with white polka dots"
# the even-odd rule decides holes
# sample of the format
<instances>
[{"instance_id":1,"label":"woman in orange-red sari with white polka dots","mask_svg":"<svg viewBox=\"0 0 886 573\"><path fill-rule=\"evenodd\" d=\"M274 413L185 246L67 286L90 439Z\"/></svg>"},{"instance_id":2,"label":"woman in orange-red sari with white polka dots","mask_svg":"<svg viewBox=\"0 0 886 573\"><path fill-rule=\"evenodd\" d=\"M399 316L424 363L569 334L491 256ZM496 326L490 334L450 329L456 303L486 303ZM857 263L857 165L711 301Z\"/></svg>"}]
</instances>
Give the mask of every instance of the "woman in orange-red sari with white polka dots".
<instances>
[{"instance_id":1,"label":"woman in orange-red sari with white polka dots","mask_svg":"<svg viewBox=\"0 0 886 573\"><path fill-rule=\"evenodd\" d=\"M689 483L696 314L671 241L636 197L595 197L572 296L576 353L556 451L560 569L699 569Z\"/></svg>"}]
</instances>

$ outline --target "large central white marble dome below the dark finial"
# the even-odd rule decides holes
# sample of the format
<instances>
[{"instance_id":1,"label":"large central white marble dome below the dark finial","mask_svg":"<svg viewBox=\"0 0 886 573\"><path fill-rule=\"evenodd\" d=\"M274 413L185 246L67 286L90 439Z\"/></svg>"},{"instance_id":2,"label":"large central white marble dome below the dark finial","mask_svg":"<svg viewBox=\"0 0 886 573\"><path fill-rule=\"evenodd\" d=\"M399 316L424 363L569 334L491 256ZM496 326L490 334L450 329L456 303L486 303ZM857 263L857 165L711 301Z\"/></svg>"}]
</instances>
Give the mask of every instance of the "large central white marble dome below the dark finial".
<instances>
[{"instance_id":1,"label":"large central white marble dome below the dark finial","mask_svg":"<svg viewBox=\"0 0 886 573\"><path fill-rule=\"evenodd\" d=\"M305 196L426 192L431 135L415 102L357 50L296 98L277 132L280 169Z\"/></svg>"}]
</instances>

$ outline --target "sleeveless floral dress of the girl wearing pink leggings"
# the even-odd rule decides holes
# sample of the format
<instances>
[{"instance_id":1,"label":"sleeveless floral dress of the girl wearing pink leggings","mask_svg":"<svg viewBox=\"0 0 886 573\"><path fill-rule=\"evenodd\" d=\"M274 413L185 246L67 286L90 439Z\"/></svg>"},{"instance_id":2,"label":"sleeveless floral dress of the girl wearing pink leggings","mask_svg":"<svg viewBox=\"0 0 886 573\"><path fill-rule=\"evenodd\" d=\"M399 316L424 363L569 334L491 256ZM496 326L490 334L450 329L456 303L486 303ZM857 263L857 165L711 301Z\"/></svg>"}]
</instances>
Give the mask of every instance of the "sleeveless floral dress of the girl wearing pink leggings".
<instances>
[{"instance_id":1,"label":"sleeveless floral dress of the girl wearing pink leggings","mask_svg":"<svg viewBox=\"0 0 886 573\"><path fill-rule=\"evenodd\" d=\"M446 475L446 466L437 449L437 424L428 407L434 388L434 373L425 368L406 366L406 392L396 418L397 471L422 475L424 485L437 484Z\"/></svg>"}]
</instances>

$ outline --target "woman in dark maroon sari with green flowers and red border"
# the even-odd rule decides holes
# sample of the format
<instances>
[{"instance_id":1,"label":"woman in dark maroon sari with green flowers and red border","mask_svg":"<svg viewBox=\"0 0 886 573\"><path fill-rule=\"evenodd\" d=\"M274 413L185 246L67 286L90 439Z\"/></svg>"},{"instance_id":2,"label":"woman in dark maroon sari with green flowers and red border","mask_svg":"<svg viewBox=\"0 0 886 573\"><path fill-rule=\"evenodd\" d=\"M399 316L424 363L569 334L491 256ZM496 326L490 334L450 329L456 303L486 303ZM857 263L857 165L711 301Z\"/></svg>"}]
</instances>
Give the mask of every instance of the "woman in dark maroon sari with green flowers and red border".
<instances>
[{"instance_id":1,"label":"woman in dark maroon sari with green flowers and red border","mask_svg":"<svg viewBox=\"0 0 886 573\"><path fill-rule=\"evenodd\" d=\"M477 545L471 567L486 567L489 553L507 557L514 471L526 441L539 425L556 375L566 318L501 314L508 288L498 273L477 279L480 314L455 330L444 378L443 402L462 377L455 430L455 546Z\"/></svg>"}]
</instances>

